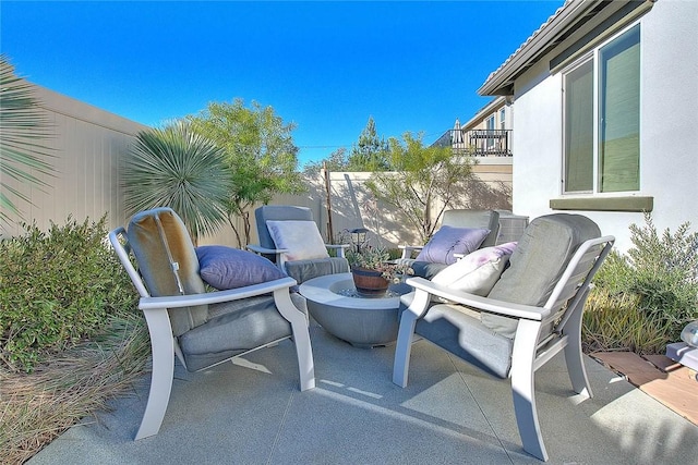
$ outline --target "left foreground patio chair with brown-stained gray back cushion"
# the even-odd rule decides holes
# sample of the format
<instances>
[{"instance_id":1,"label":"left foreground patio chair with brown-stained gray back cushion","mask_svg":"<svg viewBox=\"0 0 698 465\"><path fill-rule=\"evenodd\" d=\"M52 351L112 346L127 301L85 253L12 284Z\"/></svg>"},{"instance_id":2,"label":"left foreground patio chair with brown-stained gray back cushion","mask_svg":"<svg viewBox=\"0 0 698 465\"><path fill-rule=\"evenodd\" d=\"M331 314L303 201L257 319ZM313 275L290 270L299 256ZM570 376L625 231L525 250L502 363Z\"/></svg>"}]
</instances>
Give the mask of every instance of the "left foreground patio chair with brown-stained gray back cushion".
<instances>
[{"instance_id":1,"label":"left foreground patio chair with brown-stained gray back cushion","mask_svg":"<svg viewBox=\"0 0 698 465\"><path fill-rule=\"evenodd\" d=\"M186 370L198 371L292 338L300 389L315 387L305 301L289 294L296 285L291 278L206 292L191 237L169 208L136 213L128 231L115 229L109 241L141 294L139 308L151 333L151 391L136 440L160 429L172 388L174 354Z\"/></svg>"}]
</instances>

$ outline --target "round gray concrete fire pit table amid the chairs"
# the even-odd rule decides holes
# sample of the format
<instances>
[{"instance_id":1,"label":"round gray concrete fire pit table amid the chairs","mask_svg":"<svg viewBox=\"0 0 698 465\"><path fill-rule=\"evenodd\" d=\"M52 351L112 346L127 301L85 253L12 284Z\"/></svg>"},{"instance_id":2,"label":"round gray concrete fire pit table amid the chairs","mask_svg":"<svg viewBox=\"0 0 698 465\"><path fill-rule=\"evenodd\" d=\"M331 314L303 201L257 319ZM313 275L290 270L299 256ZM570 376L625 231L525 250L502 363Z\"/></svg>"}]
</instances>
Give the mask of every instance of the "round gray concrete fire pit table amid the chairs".
<instances>
[{"instance_id":1,"label":"round gray concrete fire pit table amid the chairs","mask_svg":"<svg viewBox=\"0 0 698 465\"><path fill-rule=\"evenodd\" d=\"M362 296L351 273L327 274L300 285L313 318L328 333L363 348L395 342L400 295L411 290L405 283L392 284L386 295Z\"/></svg>"}]
</instances>

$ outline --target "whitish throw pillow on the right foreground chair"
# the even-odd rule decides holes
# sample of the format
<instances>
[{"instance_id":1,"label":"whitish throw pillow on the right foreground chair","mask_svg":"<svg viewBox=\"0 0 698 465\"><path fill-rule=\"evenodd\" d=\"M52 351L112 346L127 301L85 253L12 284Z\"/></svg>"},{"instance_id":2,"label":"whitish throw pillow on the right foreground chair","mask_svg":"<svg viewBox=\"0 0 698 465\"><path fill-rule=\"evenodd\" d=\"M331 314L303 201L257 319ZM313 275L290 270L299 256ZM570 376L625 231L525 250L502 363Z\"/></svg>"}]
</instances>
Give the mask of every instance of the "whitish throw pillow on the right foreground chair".
<instances>
[{"instance_id":1,"label":"whitish throw pillow on the right foreground chair","mask_svg":"<svg viewBox=\"0 0 698 465\"><path fill-rule=\"evenodd\" d=\"M432 282L485 296L500 279L515 247L516 243L510 242L476 250L441 270Z\"/></svg>"}]
</instances>

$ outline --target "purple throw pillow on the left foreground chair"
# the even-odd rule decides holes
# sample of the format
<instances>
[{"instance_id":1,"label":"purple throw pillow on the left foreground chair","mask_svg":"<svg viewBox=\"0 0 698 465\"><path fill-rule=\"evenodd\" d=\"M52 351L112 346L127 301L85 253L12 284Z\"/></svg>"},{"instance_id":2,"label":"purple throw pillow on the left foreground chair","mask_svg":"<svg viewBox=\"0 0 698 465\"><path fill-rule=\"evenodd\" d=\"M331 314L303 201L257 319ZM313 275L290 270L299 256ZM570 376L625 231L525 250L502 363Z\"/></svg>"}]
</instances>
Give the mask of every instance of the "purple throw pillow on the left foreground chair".
<instances>
[{"instance_id":1,"label":"purple throw pillow on the left foreground chair","mask_svg":"<svg viewBox=\"0 0 698 465\"><path fill-rule=\"evenodd\" d=\"M222 245L196 247L201 279L219 291L286 278L270 260Z\"/></svg>"}]
</instances>

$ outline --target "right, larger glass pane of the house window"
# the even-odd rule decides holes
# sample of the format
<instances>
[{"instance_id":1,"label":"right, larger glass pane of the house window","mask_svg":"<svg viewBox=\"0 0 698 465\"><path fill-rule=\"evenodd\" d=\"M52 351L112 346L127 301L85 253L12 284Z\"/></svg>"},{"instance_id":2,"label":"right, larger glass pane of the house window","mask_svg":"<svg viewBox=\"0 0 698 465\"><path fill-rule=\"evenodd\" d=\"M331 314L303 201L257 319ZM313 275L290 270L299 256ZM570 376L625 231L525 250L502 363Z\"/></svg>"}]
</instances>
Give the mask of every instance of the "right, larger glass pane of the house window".
<instances>
[{"instance_id":1,"label":"right, larger glass pane of the house window","mask_svg":"<svg viewBox=\"0 0 698 465\"><path fill-rule=\"evenodd\" d=\"M640 187L640 27L600 53L601 192Z\"/></svg>"}]
</instances>

